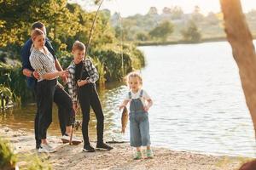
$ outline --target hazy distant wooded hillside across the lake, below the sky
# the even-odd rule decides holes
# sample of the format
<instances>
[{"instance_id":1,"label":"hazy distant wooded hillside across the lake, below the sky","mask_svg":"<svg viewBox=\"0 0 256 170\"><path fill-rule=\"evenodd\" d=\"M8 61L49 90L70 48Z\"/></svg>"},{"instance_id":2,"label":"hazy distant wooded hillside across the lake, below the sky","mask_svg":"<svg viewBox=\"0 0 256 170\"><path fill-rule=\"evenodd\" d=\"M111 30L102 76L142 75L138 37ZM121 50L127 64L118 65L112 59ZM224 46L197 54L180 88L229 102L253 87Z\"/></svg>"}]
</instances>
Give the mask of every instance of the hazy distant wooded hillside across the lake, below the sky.
<instances>
[{"instance_id":1,"label":"hazy distant wooded hillside across the lake, below the sky","mask_svg":"<svg viewBox=\"0 0 256 170\"><path fill-rule=\"evenodd\" d=\"M245 14L247 23L256 36L256 9ZM223 14L201 14L201 8L195 6L193 13L184 14L178 6L165 7L162 11L151 7L148 14L135 14L120 18L118 13L111 17L116 37L126 42L141 45L160 42L204 42L224 40Z\"/></svg>"}]
</instances>

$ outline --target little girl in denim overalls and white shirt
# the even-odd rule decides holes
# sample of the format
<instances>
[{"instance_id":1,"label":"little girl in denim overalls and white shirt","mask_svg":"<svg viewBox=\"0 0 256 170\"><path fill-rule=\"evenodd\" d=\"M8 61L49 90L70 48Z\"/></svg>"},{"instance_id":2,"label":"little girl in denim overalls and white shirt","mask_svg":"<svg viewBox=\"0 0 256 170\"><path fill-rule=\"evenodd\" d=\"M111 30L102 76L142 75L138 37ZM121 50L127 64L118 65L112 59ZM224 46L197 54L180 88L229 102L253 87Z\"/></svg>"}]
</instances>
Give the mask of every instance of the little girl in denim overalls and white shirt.
<instances>
[{"instance_id":1,"label":"little girl in denim overalls and white shirt","mask_svg":"<svg viewBox=\"0 0 256 170\"><path fill-rule=\"evenodd\" d=\"M143 79L136 72L131 72L127 76L127 85L130 91L119 106L119 110L130 102L130 144L137 149L134 159L142 158L141 146L147 146L146 156L153 158L153 152L150 149L148 122L148 109L153 104L152 99L142 89Z\"/></svg>"}]
</instances>

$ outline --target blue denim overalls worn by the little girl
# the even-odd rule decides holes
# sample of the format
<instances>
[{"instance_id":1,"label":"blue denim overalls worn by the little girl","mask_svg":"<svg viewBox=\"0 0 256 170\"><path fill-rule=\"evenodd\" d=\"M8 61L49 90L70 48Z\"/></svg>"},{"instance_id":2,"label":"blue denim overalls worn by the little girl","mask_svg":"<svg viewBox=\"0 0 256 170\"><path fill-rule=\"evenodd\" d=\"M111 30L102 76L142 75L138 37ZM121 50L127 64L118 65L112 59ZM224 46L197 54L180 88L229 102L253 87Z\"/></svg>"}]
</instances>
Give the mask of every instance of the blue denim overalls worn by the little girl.
<instances>
[{"instance_id":1,"label":"blue denim overalls worn by the little girl","mask_svg":"<svg viewBox=\"0 0 256 170\"><path fill-rule=\"evenodd\" d=\"M131 99L129 92L130 104L130 143L131 146L147 146L150 145L148 112L143 109L143 90L141 90L138 99Z\"/></svg>"}]
</instances>

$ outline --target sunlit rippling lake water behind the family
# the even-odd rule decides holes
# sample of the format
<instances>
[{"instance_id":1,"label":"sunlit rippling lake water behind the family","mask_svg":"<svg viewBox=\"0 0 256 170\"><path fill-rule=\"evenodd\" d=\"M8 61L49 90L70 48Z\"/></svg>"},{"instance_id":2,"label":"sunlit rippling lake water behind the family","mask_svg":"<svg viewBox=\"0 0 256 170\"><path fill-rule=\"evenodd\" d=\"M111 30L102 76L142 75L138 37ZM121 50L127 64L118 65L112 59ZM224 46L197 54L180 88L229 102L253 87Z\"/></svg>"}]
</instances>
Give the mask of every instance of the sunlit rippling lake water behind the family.
<instances>
[{"instance_id":1,"label":"sunlit rippling lake water behind the family","mask_svg":"<svg viewBox=\"0 0 256 170\"><path fill-rule=\"evenodd\" d=\"M227 42L141 49L147 60L142 71L143 88L154 100L149 111L153 145L218 155L256 156L253 123ZM105 114L105 139L129 139L129 127L124 136L119 133L118 105L126 92L122 83L111 83L99 90ZM32 132L34 113L35 105L5 111L0 115L0 123ZM58 126L55 109L49 133L60 136ZM96 139L94 114L90 114L90 136Z\"/></svg>"}]
</instances>

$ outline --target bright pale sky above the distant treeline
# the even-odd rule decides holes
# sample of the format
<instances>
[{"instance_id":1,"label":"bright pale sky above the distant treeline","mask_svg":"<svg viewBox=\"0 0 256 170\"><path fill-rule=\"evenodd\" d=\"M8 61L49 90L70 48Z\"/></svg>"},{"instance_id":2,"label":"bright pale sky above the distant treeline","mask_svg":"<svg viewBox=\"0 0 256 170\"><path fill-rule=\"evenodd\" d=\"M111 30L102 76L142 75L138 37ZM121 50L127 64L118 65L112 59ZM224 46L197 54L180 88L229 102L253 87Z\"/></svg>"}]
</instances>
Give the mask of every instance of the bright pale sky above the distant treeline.
<instances>
[{"instance_id":1,"label":"bright pale sky above the distant treeline","mask_svg":"<svg viewBox=\"0 0 256 170\"><path fill-rule=\"evenodd\" d=\"M84 4L87 10L96 9L88 5L86 0L70 0L70 2ZM244 12L256 9L255 0L241 0L241 4ZM127 17L134 14L147 14L150 7L156 7L161 13L164 7L180 6L184 13L191 13L196 5L201 8L202 14L220 11L219 0L104 0L101 8L108 8L112 14L119 12L122 17Z\"/></svg>"}]
</instances>

